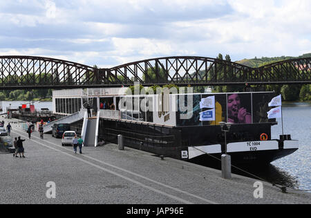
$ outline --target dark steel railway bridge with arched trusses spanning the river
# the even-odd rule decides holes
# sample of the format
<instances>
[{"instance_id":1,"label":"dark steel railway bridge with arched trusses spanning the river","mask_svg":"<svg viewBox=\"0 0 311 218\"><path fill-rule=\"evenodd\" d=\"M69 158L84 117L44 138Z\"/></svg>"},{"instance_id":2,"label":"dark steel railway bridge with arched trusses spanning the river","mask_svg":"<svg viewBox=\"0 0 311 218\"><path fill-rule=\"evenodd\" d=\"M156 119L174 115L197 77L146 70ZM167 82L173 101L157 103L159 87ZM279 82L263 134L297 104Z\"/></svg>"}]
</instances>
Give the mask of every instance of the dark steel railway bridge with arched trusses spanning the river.
<instances>
[{"instance_id":1,"label":"dark steel railway bridge with arched trusses spanning the river","mask_svg":"<svg viewBox=\"0 0 311 218\"><path fill-rule=\"evenodd\" d=\"M0 56L0 89L75 89L144 86L222 86L236 84L311 84L311 57L258 68L210 57L159 57L99 69L66 60Z\"/></svg>"}]
</instances>

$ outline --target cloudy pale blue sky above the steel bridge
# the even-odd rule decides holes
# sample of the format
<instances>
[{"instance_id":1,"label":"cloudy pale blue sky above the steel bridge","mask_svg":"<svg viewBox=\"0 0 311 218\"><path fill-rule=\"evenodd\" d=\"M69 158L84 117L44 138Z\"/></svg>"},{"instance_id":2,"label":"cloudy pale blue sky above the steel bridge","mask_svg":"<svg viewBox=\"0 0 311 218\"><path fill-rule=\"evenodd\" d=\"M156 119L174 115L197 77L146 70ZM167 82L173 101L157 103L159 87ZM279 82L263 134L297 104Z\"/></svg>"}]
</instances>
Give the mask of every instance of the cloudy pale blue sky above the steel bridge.
<instances>
[{"instance_id":1,"label":"cloudy pale blue sky above the steel bridge","mask_svg":"<svg viewBox=\"0 0 311 218\"><path fill-rule=\"evenodd\" d=\"M109 68L156 57L311 53L310 0L0 0L0 55Z\"/></svg>"}]
</instances>

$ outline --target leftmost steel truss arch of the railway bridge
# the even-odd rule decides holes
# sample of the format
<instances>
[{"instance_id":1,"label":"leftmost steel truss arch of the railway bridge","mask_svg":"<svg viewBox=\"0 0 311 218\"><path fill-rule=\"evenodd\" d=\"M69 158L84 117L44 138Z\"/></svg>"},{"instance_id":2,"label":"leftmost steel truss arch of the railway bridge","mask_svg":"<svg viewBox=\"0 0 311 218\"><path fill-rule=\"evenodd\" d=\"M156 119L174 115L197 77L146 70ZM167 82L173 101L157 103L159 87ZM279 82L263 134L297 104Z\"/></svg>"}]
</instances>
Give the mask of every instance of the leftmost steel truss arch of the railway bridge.
<instances>
[{"instance_id":1,"label":"leftmost steel truss arch of the railway bridge","mask_svg":"<svg viewBox=\"0 0 311 218\"><path fill-rule=\"evenodd\" d=\"M92 85L98 69L92 66L36 56L0 56L0 87L46 89Z\"/></svg>"}]
</instances>

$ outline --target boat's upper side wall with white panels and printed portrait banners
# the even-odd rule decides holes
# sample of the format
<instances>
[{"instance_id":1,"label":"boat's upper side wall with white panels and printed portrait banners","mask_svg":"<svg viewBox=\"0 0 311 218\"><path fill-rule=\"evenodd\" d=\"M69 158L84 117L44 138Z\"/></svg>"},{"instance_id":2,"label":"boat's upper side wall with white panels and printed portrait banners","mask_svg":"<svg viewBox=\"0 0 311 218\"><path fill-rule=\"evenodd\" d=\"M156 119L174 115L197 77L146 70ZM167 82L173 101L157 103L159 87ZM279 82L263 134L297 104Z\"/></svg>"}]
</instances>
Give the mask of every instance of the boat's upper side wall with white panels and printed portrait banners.
<instances>
[{"instance_id":1,"label":"boat's upper side wall with white panels and printed portrait banners","mask_svg":"<svg viewBox=\"0 0 311 218\"><path fill-rule=\"evenodd\" d=\"M158 125L202 126L219 122L269 122L273 93L189 93L117 98L122 119Z\"/></svg>"}]
</instances>

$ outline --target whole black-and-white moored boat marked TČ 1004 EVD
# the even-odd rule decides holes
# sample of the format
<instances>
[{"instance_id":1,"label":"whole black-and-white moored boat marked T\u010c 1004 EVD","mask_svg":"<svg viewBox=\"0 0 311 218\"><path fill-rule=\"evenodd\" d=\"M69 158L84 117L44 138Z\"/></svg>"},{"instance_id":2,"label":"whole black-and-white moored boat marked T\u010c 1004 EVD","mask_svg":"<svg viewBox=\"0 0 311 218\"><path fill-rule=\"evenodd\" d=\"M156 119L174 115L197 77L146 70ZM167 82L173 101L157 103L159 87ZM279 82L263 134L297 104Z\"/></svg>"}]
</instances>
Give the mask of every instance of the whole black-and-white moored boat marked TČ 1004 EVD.
<instances>
[{"instance_id":1,"label":"whole black-and-white moored boat marked T\u010c 1004 EVD","mask_svg":"<svg viewBox=\"0 0 311 218\"><path fill-rule=\"evenodd\" d=\"M298 149L290 134L272 137L271 127L279 125L267 118L274 92L133 95L126 90L53 91L53 111L56 116L86 114L91 102L95 146L101 140L118 143L122 135L125 146L192 163L218 164L222 154L229 154L233 164L261 165Z\"/></svg>"}]
</instances>

